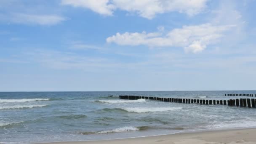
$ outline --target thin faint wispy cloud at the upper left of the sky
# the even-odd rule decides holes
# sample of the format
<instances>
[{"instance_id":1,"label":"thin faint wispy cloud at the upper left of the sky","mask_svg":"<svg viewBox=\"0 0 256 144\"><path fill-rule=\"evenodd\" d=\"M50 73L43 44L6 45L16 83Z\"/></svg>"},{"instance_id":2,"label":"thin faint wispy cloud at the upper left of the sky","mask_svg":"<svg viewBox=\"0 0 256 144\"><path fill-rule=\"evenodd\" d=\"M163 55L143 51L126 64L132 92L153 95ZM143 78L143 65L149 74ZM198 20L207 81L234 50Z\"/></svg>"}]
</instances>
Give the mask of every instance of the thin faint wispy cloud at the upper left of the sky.
<instances>
[{"instance_id":1,"label":"thin faint wispy cloud at the upper left of the sky","mask_svg":"<svg viewBox=\"0 0 256 144\"><path fill-rule=\"evenodd\" d=\"M0 16L2 21L8 21L18 24L39 24L39 25L54 25L66 20L64 17L57 15L36 15L25 13L11 13Z\"/></svg>"}]
</instances>

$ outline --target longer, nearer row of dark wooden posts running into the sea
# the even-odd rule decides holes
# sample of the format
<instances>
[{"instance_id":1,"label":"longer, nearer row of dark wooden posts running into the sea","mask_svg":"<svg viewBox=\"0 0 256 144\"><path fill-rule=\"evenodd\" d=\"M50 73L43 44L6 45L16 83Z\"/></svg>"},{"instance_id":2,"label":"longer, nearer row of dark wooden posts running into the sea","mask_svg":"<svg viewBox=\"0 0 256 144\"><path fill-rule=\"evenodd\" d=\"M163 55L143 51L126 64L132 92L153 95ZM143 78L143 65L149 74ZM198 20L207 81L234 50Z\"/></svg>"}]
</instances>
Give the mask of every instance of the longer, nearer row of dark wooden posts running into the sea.
<instances>
[{"instance_id":1,"label":"longer, nearer row of dark wooden posts running into the sea","mask_svg":"<svg viewBox=\"0 0 256 144\"><path fill-rule=\"evenodd\" d=\"M119 96L120 99L150 99L165 102L175 102L183 104L205 104L205 105L228 105L237 107L249 107L256 108L256 99L229 99L229 100L208 100L208 99L181 99L181 98L160 98L149 96Z\"/></svg>"}]
</instances>

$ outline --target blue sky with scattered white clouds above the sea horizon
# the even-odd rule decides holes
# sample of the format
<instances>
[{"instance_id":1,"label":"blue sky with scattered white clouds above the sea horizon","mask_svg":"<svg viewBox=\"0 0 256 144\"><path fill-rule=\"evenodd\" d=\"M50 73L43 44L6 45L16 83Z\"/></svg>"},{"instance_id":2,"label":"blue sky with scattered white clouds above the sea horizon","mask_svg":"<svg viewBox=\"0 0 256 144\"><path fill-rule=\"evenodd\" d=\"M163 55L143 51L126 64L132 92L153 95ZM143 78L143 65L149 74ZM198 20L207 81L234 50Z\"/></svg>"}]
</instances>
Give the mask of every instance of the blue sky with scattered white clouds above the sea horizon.
<instances>
[{"instance_id":1,"label":"blue sky with scattered white clouds above the sea horizon","mask_svg":"<svg viewBox=\"0 0 256 144\"><path fill-rule=\"evenodd\" d=\"M0 0L0 91L256 90L256 0Z\"/></svg>"}]
</instances>

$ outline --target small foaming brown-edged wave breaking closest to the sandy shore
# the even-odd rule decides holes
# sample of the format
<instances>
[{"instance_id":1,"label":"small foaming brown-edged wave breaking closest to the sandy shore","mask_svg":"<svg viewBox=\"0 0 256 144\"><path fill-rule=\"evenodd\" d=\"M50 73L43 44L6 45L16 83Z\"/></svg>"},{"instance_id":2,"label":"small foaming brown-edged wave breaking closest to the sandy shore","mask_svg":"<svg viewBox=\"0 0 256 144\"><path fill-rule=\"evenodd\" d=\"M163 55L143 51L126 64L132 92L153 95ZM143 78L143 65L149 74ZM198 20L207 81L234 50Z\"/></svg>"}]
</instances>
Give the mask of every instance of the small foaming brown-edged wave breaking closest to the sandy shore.
<instances>
[{"instance_id":1,"label":"small foaming brown-edged wave breaking closest to the sandy shore","mask_svg":"<svg viewBox=\"0 0 256 144\"><path fill-rule=\"evenodd\" d=\"M139 130L140 130L139 127L125 126L125 127L115 128L115 129L106 130L106 131L83 132L82 134L88 135L88 134L120 133L120 132L139 131Z\"/></svg>"}]
</instances>

